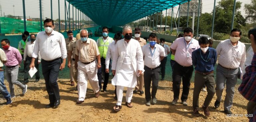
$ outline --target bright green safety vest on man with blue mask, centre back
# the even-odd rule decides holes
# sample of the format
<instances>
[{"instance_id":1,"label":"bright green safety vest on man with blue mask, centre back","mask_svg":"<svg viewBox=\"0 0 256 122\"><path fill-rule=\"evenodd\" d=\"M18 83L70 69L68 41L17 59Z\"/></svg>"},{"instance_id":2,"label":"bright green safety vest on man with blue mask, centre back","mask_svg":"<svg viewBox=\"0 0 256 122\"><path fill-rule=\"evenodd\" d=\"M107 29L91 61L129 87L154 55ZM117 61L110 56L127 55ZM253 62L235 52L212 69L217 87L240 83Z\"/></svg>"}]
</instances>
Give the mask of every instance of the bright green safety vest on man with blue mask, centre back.
<instances>
[{"instance_id":1,"label":"bright green safety vest on man with blue mask, centre back","mask_svg":"<svg viewBox=\"0 0 256 122\"><path fill-rule=\"evenodd\" d=\"M107 56L107 50L108 50L108 45L113 42L113 38L108 37L108 40L104 43L103 37L99 37L98 44L99 44L99 53L100 53L100 58L103 57L106 59Z\"/></svg>"}]
</instances>

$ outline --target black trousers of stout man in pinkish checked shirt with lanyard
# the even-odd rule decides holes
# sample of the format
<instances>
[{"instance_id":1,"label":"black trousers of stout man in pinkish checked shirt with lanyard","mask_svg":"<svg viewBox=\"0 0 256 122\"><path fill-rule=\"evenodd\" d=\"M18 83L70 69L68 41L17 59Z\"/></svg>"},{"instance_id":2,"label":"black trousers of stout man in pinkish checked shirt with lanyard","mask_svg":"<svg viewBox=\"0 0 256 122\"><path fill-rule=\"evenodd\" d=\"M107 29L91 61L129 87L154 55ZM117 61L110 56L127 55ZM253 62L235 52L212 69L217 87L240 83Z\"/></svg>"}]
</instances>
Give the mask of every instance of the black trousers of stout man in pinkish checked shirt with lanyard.
<instances>
[{"instance_id":1,"label":"black trousers of stout man in pinkish checked shirt with lanyard","mask_svg":"<svg viewBox=\"0 0 256 122\"><path fill-rule=\"evenodd\" d=\"M182 95L181 100L187 101L189 90L190 90L190 80L193 74L193 66L184 67L179 63L175 62L173 67L173 93L174 99L178 100L180 96L180 85L182 79Z\"/></svg>"}]
</instances>

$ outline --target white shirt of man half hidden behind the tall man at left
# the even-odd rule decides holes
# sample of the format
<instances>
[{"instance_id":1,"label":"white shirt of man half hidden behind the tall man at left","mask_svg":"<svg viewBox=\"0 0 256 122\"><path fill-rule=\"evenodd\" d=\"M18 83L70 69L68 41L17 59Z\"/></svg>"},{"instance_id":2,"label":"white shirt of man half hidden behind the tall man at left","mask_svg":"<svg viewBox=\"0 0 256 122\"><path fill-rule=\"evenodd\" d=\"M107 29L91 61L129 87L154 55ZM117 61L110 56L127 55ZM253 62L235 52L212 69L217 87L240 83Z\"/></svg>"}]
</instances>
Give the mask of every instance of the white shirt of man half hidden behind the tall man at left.
<instances>
[{"instance_id":1,"label":"white shirt of man half hidden behind the tall man at left","mask_svg":"<svg viewBox=\"0 0 256 122\"><path fill-rule=\"evenodd\" d=\"M24 51L24 58L23 58L24 61L26 61L27 56L32 57L32 53L33 53L33 50L34 50L34 47L35 47L35 43L36 43L36 40L33 43L31 43L31 41L26 43L26 48L25 48L25 51ZM40 53L39 53L39 56L38 56L38 62L41 62Z\"/></svg>"}]
</instances>

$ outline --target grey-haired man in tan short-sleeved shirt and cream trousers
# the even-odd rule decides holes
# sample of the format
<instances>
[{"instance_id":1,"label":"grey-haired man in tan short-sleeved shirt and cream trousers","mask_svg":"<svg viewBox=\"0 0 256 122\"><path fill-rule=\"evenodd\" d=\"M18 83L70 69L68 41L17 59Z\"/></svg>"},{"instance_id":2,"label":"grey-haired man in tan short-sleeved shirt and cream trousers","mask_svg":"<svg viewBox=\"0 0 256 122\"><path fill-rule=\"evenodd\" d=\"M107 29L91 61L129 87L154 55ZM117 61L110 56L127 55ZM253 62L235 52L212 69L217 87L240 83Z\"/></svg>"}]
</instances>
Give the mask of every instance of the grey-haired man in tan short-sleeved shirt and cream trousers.
<instances>
[{"instance_id":1,"label":"grey-haired man in tan short-sleeved shirt and cream trousers","mask_svg":"<svg viewBox=\"0 0 256 122\"><path fill-rule=\"evenodd\" d=\"M84 101L87 80L95 93L95 97L99 97L99 80L97 77L97 69L101 67L100 53L98 46L93 39L87 38L88 31L80 31L80 40L76 41L75 50L75 69L77 69L77 89L78 101L76 104L81 104ZM97 61L96 61L97 58ZM79 61L78 61L79 60ZM78 62L78 63L77 63Z\"/></svg>"}]
</instances>

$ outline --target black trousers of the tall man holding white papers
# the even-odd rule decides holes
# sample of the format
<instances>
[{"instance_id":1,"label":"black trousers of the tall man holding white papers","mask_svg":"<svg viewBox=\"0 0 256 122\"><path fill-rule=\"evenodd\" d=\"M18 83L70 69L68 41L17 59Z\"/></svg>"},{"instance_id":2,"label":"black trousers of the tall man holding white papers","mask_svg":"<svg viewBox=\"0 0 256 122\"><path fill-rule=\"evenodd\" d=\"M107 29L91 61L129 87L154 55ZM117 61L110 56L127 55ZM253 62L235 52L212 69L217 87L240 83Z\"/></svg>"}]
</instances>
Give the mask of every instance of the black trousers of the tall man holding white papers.
<instances>
[{"instance_id":1,"label":"black trousers of the tall man holding white papers","mask_svg":"<svg viewBox=\"0 0 256 122\"><path fill-rule=\"evenodd\" d=\"M47 93L49 94L50 103L54 103L56 100L60 99L60 90L57 82L60 66L62 59L59 58L55 61L45 61L42 60L42 73L45 78L45 86Z\"/></svg>"}]
</instances>

